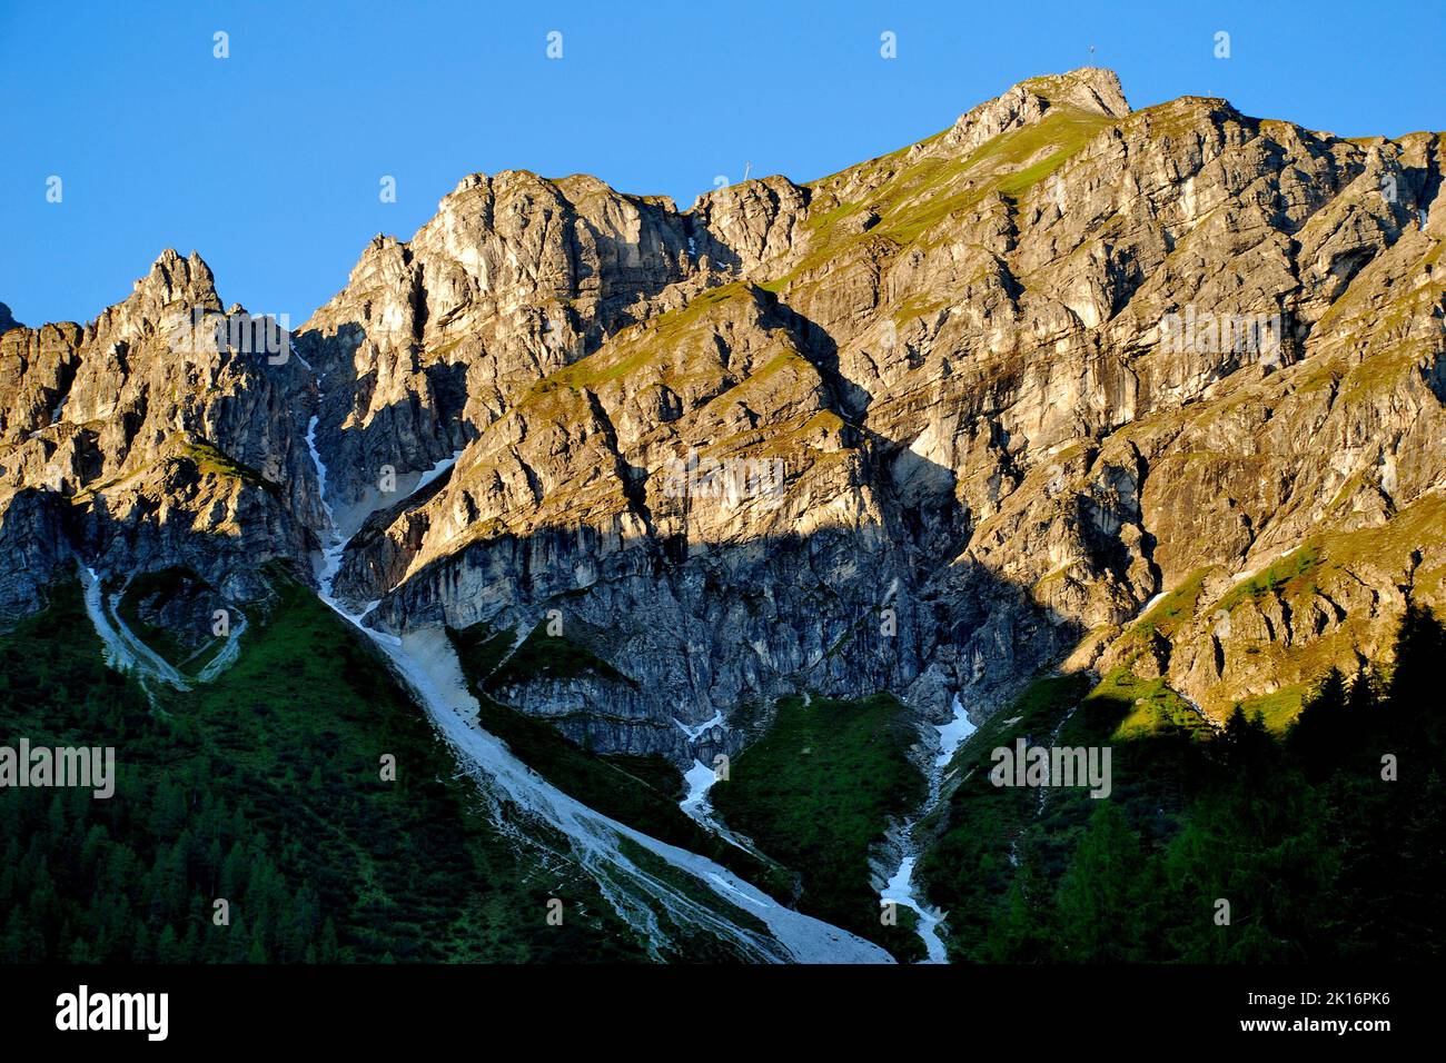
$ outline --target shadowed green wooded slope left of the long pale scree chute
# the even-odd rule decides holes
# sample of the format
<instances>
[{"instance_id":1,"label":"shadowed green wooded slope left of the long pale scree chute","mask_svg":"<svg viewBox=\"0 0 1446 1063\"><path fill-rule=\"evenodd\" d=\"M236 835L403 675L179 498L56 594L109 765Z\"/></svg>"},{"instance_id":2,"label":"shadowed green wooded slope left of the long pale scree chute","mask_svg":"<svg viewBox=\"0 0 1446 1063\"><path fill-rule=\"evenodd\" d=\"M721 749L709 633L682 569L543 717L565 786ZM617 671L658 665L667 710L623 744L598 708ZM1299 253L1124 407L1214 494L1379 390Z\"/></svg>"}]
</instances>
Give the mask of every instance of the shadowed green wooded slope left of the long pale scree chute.
<instances>
[{"instance_id":1,"label":"shadowed green wooded slope left of the long pale scree chute","mask_svg":"<svg viewBox=\"0 0 1446 1063\"><path fill-rule=\"evenodd\" d=\"M278 589L241 659L155 712L101 664L74 586L0 636L4 733L106 742L121 765L110 801L0 794L4 959L639 957L590 879L490 826L370 648L305 587ZM211 924L215 897L230 927Z\"/></svg>"}]
</instances>

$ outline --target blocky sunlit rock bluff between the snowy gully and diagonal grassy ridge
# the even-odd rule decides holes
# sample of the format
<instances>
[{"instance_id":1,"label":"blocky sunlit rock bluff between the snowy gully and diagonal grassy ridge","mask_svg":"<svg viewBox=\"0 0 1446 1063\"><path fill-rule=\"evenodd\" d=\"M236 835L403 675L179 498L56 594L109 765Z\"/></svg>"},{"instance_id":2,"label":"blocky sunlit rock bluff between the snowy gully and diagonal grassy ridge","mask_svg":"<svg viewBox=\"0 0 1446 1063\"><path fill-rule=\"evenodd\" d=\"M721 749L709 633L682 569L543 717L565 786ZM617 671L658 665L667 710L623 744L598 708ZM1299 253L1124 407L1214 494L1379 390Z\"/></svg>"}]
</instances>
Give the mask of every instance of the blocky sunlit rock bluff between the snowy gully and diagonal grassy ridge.
<instances>
[{"instance_id":1,"label":"blocky sunlit rock bluff between the snowy gully and diagonal grassy ridge","mask_svg":"<svg viewBox=\"0 0 1446 1063\"><path fill-rule=\"evenodd\" d=\"M600 181L473 175L409 243L377 237L301 330L340 512L406 493L518 395L700 283L688 223ZM678 286L681 291L668 291ZM385 469L402 476L395 492ZM395 498L388 499L388 495Z\"/></svg>"}]
</instances>

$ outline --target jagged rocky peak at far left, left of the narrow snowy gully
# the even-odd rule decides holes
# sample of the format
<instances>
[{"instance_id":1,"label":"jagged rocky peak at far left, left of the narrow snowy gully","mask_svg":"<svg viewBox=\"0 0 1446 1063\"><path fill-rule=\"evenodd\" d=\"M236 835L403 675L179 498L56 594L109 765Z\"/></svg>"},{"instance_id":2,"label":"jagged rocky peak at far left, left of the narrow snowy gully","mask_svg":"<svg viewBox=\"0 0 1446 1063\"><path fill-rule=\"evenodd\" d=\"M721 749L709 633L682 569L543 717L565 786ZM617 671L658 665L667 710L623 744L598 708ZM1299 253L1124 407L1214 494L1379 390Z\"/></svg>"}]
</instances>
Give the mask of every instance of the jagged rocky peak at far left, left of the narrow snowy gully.
<instances>
[{"instance_id":1,"label":"jagged rocky peak at far left, left of the narrow snowy gully","mask_svg":"<svg viewBox=\"0 0 1446 1063\"><path fill-rule=\"evenodd\" d=\"M266 593L269 560L309 567L315 386L247 330L233 349L233 321L205 263L166 252L84 328L0 338L0 618L75 560L119 579L188 565L237 602Z\"/></svg>"}]
</instances>

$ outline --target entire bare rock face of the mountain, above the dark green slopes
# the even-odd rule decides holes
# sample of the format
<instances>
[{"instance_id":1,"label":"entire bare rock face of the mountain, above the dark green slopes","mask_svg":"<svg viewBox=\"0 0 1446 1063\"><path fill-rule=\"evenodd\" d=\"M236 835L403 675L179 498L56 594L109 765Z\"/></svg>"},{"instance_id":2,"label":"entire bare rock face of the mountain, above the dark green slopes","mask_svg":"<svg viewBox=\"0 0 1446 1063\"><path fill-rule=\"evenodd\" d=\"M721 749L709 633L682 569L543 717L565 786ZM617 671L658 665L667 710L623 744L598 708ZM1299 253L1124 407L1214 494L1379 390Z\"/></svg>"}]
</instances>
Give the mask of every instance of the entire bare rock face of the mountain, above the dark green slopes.
<instances>
[{"instance_id":1,"label":"entire bare rock face of the mountain, above the dark green slopes","mask_svg":"<svg viewBox=\"0 0 1446 1063\"><path fill-rule=\"evenodd\" d=\"M596 749L687 764L804 690L986 714L1058 664L1299 697L1443 605L1443 149L1082 69L685 213L474 175L283 364L163 344L233 317L168 253L0 340L0 618L65 551L305 570L309 435L337 594L554 625L615 673L497 696Z\"/></svg>"}]
</instances>

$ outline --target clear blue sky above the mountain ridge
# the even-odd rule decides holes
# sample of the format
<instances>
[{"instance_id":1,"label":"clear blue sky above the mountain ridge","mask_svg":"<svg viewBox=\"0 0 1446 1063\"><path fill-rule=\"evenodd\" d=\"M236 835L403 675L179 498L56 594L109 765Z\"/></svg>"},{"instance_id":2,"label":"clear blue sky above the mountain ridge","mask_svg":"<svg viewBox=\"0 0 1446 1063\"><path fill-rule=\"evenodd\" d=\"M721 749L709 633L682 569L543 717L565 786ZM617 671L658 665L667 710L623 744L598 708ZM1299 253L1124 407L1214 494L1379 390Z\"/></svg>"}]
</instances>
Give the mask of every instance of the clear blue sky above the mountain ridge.
<instances>
[{"instance_id":1,"label":"clear blue sky above the mountain ridge","mask_svg":"<svg viewBox=\"0 0 1446 1063\"><path fill-rule=\"evenodd\" d=\"M85 321L174 246L227 302L299 324L373 234L411 237L474 171L596 174L687 207L745 162L808 181L1087 64L1134 107L1223 95L1342 136L1446 129L1440 0L610 9L0 0L0 302L32 325Z\"/></svg>"}]
</instances>

